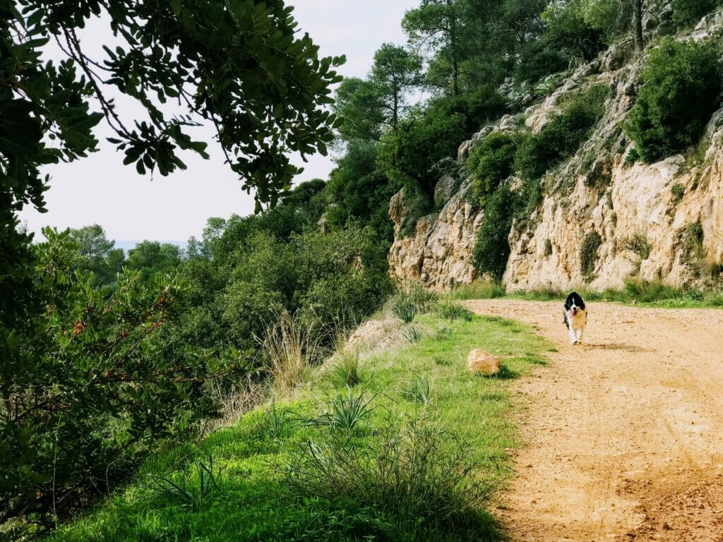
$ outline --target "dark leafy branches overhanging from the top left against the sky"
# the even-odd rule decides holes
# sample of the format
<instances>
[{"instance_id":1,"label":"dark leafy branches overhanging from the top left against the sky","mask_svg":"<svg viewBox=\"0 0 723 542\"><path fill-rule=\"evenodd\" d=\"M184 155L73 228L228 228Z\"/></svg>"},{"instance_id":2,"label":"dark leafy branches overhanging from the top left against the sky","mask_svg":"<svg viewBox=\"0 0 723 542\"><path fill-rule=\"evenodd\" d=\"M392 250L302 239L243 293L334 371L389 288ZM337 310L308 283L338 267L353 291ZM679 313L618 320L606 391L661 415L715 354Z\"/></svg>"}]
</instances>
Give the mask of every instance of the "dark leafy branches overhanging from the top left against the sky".
<instances>
[{"instance_id":1,"label":"dark leafy branches overhanging from the top left against the sky","mask_svg":"<svg viewBox=\"0 0 723 542\"><path fill-rule=\"evenodd\" d=\"M103 116L124 163L161 175L185 168L180 150L208 158L205 142L193 141L187 129L209 121L226 161L244 189L256 190L258 204L275 202L299 171L288 152L323 153L333 137L335 116L322 106L333 101L330 85L341 77L331 68L343 58L319 59L309 35L296 34L281 0L2 0L0 14L0 133L13 134L0 137L0 153L4 188L17 204L32 200L43 207L37 166L95 150L91 130ZM96 61L76 30L99 16L127 45L104 46L106 58ZM50 37L68 57L57 65L42 60ZM111 86L140 102L148 118L121 119L108 98ZM91 95L102 113L90 113ZM166 113L169 99L187 114ZM47 147L46 134L59 145Z\"/></svg>"}]
</instances>

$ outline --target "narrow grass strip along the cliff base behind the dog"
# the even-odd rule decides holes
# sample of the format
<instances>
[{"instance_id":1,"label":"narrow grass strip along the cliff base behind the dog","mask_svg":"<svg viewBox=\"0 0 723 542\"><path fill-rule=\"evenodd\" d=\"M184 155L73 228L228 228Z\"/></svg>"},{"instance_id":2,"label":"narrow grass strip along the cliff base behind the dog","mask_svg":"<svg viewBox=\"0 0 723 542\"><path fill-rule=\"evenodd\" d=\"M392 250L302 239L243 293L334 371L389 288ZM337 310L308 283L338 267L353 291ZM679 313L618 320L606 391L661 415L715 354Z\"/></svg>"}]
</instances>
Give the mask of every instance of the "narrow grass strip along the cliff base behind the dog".
<instances>
[{"instance_id":1,"label":"narrow grass strip along the cliff base behind the dog","mask_svg":"<svg viewBox=\"0 0 723 542\"><path fill-rule=\"evenodd\" d=\"M577 288L576 291L587 301L612 301L620 304L652 306L662 308L719 308L723 307L723 289L702 291L693 288L675 288L659 282L628 280L625 288L608 288L602 292ZM560 301L568 291L532 290L507 294L503 285L492 283L472 283L453 291L454 299L489 299L509 297L528 301Z\"/></svg>"}]
</instances>

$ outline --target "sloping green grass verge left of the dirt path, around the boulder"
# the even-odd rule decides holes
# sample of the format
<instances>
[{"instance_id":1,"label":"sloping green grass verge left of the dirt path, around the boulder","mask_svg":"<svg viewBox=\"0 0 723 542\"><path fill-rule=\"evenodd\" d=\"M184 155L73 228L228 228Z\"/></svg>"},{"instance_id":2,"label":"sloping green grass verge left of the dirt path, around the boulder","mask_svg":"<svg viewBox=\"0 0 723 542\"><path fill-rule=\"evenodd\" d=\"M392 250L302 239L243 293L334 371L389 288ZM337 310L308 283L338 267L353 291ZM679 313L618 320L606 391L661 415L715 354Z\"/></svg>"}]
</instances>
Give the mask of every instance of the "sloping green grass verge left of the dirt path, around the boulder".
<instances>
[{"instance_id":1,"label":"sloping green grass verge left of the dirt path, around the boulder","mask_svg":"<svg viewBox=\"0 0 723 542\"><path fill-rule=\"evenodd\" d=\"M291 398L150 458L51 539L499 540L484 508L517 444L508 379L550 345L462 316L424 314L399 348L338 355ZM470 374L471 348L502 356L500 376Z\"/></svg>"}]
</instances>

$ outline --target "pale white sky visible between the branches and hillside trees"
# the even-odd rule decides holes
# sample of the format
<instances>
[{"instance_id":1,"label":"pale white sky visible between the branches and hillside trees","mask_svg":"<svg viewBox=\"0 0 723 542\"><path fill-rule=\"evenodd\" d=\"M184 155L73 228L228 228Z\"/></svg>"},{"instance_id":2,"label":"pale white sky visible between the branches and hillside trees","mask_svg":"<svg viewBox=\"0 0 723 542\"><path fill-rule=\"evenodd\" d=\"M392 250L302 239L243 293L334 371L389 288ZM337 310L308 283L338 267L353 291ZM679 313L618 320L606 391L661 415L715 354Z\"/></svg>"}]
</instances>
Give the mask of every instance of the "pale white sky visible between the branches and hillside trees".
<instances>
[{"instance_id":1,"label":"pale white sky visible between the branches and hillside trees","mask_svg":"<svg viewBox=\"0 0 723 542\"><path fill-rule=\"evenodd\" d=\"M338 69L346 77L365 77L374 53L382 43L402 45L406 38L401 20L419 0L288 0L301 32L308 32L320 46L320 56L346 55L346 64ZM91 27L90 43L104 43L111 34L107 25ZM100 47L97 48L100 50ZM132 103L119 110L132 116ZM96 108L97 109L97 108ZM100 150L72 163L46 168L51 176L46 192L48 212L33 207L20 212L28 231L41 240L46 225L64 229L100 224L106 236L115 240L186 241L200 238L210 217L228 218L232 214L253 212L253 197L241 190L241 181L223 164L221 148L213 142L213 130L199 129L197 139L209 143L210 160L187 153L181 157L188 166L163 177L140 176L135 168L123 165L123 154L105 141L111 131L103 123L96 130ZM316 155L304 166L296 183L312 178L327 178L333 168L330 157Z\"/></svg>"}]
</instances>

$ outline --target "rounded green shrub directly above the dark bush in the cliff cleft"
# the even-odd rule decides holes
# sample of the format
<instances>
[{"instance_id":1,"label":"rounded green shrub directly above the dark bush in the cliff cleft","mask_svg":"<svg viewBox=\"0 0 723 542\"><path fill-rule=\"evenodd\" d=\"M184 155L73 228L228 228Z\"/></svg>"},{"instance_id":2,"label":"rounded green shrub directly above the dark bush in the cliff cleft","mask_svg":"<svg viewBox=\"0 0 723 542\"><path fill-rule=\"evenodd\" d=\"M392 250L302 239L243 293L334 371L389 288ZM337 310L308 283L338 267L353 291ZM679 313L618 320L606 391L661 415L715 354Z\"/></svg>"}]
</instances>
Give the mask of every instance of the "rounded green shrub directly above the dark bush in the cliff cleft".
<instances>
[{"instance_id":1,"label":"rounded green shrub directly above the dark bush in the cliff cleft","mask_svg":"<svg viewBox=\"0 0 723 542\"><path fill-rule=\"evenodd\" d=\"M467 169L473 179L474 195L483 208L500 182L513 173L516 150L517 144L512 136L495 132L485 137L469 155Z\"/></svg>"}]
</instances>

